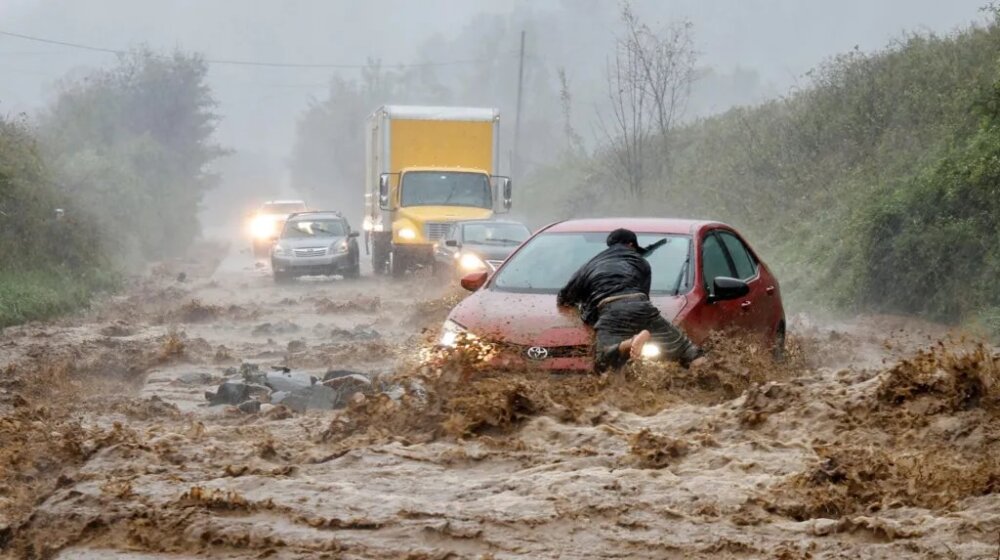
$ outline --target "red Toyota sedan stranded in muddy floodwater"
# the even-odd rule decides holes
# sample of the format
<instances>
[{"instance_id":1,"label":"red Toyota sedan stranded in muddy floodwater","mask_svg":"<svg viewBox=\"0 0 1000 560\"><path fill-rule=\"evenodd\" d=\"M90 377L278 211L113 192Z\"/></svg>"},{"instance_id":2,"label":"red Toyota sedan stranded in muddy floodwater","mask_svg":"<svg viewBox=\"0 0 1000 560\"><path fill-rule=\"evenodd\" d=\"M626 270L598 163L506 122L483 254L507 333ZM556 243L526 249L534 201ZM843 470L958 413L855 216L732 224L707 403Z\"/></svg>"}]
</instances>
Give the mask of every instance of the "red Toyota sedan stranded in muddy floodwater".
<instances>
[{"instance_id":1,"label":"red Toyota sedan stranded in muddy floodwater","mask_svg":"<svg viewBox=\"0 0 1000 560\"><path fill-rule=\"evenodd\" d=\"M543 228L492 276L462 279L475 293L452 309L441 344L454 345L468 333L499 344L508 360L591 369L592 331L576 313L556 306L556 293L620 227L634 231L643 246L668 240L648 257L650 297L696 343L712 331L737 328L759 336L776 354L784 349L778 281L743 237L719 222L658 218L569 220Z\"/></svg>"}]
</instances>

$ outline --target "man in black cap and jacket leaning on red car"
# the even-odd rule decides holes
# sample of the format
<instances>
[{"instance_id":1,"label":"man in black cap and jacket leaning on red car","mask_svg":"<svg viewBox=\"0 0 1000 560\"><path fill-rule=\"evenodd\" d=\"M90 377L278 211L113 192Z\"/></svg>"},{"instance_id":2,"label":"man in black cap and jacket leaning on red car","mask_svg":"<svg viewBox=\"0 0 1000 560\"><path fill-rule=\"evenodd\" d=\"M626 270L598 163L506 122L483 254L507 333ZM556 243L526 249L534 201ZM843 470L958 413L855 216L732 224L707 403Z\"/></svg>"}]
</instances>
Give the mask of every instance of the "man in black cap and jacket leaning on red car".
<instances>
[{"instance_id":1,"label":"man in black cap and jacket leaning on red car","mask_svg":"<svg viewBox=\"0 0 1000 560\"><path fill-rule=\"evenodd\" d=\"M556 299L562 307L578 306L583 322L594 328L594 369L620 368L642 356L650 341L657 344L661 358L684 367L701 365L702 350L649 301L652 269L645 255L657 244L640 247L627 229L612 231L607 244L576 271Z\"/></svg>"}]
</instances>

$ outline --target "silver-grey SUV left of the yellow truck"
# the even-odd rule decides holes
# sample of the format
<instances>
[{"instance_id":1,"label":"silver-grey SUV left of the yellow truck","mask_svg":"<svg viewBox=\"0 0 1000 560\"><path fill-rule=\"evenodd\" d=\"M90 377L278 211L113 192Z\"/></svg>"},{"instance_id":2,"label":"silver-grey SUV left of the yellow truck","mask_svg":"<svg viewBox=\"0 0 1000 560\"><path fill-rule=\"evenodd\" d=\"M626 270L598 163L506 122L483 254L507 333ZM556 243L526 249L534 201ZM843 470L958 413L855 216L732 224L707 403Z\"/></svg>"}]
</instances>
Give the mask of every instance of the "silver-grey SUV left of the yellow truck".
<instances>
[{"instance_id":1,"label":"silver-grey SUV left of the yellow truck","mask_svg":"<svg viewBox=\"0 0 1000 560\"><path fill-rule=\"evenodd\" d=\"M285 221L271 250L275 282L298 276L361 276L358 232L336 212L300 212Z\"/></svg>"}]
</instances>

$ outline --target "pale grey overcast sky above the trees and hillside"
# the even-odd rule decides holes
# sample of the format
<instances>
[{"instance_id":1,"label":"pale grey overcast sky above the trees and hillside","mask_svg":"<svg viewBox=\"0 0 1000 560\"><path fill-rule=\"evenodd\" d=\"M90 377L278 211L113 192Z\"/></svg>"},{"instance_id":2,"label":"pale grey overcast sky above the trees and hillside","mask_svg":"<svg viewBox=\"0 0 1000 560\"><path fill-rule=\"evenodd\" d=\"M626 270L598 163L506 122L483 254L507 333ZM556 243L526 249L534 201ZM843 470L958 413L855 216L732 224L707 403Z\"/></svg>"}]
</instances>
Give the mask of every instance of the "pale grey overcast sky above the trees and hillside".
<instances>
[{"instance_id":1,"label":"pale grey overcast sky above the trees and hillside","mask_svg":"<svg viewBox=\"0 0 1000 560\"><path fill-rule=\"evenodd\" d=\"M855 45L873 50L904 30L947 33L981 20L983 4L985 0L636 2L650 22L690 18L703 65L720 72L755 72L774 93L802 83L811 67ZM599 97L597 85L617 29L617 2L612 0L0 0L0 30L112 49L140 43L156 49L181 47L217 59L363 64L375 57L405 63L419 61L418 53L432 36L446 43L468 34L469 22L484 12L513 14L512 21L537 16L547 27L543 36L528 39L532 60L565 67L580 89L578 99ZM470 56L440 50L423 52L442 57L435 62ZM113 58L0 36L0 112L31 113L51 99L53 84L67 72ZM441 72L451 68L457 72L460 66ZM334 72L212 66L210 81L223 116L219 140L280 168L296 116L310 97L323 95ZM730 99L744 98L719 99L711 109L722 110Z\"/></svg>"}]
</instances>

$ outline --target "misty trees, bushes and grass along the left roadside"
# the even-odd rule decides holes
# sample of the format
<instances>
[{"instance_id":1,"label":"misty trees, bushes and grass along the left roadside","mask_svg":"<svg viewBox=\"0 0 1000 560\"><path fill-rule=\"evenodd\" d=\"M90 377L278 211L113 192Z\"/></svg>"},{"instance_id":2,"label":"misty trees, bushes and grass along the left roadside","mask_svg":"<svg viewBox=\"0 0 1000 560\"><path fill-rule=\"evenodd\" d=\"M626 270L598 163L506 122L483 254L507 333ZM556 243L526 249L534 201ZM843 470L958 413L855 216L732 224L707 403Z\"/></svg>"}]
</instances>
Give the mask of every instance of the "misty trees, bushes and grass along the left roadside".
<instances>
[{"instance_id":1,"label":"misty trees, bushes and grass along the left roadside","mask_svg":"<svg viewBox=\"0 0 1000 560\"><path fill-rule=\"evenodd\" d=\"M206 70L134 51L36 120L0 118L0 328L84 306L195 239L223 153Z\"/></svg>"}]
</instances>

